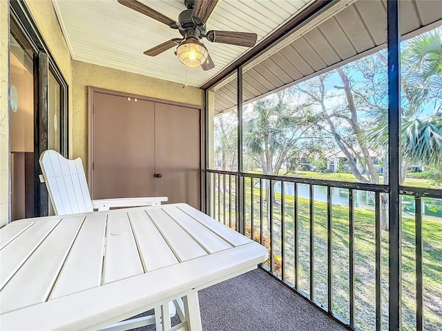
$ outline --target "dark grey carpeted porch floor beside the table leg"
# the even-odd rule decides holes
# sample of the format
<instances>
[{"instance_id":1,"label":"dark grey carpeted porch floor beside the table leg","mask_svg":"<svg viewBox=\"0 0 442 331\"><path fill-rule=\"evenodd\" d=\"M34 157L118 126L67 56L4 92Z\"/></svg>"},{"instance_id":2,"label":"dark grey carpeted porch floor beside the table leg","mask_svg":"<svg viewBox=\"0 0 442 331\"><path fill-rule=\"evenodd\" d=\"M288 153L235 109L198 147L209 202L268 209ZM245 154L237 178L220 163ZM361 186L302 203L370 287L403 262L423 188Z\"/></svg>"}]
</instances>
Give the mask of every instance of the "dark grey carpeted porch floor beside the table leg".
<instances>
[{"instance_id":1,"label":"dark grey carpeted porch floor beside the table leg","mask_svg":"<svg viewBox=\"0 0 442 331\"><path fill-rule=\"evenodd\" d=\"M199 297L204 331L348 330L262 269L201 290Z\"/></svg>"}]
</instances>

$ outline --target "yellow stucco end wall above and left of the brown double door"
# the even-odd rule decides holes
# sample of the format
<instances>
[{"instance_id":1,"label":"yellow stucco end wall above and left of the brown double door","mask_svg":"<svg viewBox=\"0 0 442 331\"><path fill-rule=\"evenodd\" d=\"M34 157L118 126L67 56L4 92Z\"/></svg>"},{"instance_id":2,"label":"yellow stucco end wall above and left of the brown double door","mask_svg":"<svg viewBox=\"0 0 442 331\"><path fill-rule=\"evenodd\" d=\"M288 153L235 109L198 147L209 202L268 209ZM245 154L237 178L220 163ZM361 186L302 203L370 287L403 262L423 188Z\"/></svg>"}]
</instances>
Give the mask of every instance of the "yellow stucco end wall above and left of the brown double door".
<instances>
[{"instance_id":1,"label":"yellow stucco end wall above and left of the brown double door","mask_svg":"<svg viewBox=\"0 0 442 331\"><path fill-rule=\"evenodd\" d=\"M146 97L204 105L204 91L192 86L164 81L131 72L73 61L73 157L88 164L88 86Z\"/></svg>"}]
</instances>

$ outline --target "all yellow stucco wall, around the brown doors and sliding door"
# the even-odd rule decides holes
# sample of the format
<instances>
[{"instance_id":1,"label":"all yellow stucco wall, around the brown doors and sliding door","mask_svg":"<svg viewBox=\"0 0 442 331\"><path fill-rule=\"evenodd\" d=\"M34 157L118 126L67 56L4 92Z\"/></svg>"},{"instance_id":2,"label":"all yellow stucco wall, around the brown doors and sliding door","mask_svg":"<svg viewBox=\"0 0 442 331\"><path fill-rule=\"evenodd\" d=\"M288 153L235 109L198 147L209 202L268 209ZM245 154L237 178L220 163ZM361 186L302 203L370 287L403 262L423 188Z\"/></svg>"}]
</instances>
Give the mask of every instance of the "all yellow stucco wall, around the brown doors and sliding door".
<instances>
[{"instance_id":1,"label":"all yellow stucco wall, around the brown doors and sliding door","mask_svg":"<svg viewBox=\"0 0 442 331\"><path fill-rule=\"evenodd\" d=\"M73 61L51 0L26 0L50 53L68 83L69 157L81 157L87 165L87 87L95 86L147 97L204 104L199 88L146 77L121 70ZM0 0L0 227L10 218L9 146L9 1Z\"/></svg>"}]
</instances>

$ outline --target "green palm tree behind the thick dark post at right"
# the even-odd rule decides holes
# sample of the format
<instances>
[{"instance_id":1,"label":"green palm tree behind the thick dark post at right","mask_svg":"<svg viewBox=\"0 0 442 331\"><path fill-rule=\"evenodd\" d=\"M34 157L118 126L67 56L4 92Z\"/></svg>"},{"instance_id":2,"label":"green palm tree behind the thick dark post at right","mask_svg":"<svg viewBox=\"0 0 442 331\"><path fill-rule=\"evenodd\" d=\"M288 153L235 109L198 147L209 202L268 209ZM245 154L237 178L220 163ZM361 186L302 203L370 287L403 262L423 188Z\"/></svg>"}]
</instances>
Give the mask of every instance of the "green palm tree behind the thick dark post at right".
<instances>
[{"instance_id":1,"label":"green palm tree behind the thick dark post at right","mask_svg":"<svg viewBox=\"0 0 442 331\"><path fill-rule=\"evenodd\" d=\"M401 183L410 163L442 167L442 43L441 31L421 34L407 41L401 55ZM365 139L374 147L388 144L388 114L384 110L374 116L377 126L365 132ZM388 181L385 157L384 182ZM388 230L387 210L382 225Z\"/></svg>"}]
</instances>

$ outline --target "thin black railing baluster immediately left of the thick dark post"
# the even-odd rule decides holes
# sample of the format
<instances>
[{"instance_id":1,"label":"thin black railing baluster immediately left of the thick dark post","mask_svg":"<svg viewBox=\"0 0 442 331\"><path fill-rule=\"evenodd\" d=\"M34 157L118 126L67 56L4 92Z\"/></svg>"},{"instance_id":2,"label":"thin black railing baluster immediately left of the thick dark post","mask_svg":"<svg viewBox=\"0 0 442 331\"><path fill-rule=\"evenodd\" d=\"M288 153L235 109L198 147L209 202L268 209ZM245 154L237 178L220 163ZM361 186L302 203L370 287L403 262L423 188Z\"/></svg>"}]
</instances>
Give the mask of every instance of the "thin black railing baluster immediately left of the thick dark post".
<instances>
[{"instance_id":1,"label":"thin black railing baluster immediately left of the thick dark post","mask_svg":"<svg viewBox=\"0 0 442 331\"><path fill-rule=\"evenodd\" d=\"M381 280L381 194L375 193L374 219L376 226L376 331L382 325L382 280Z\"/></svg>"}]
</instances>

